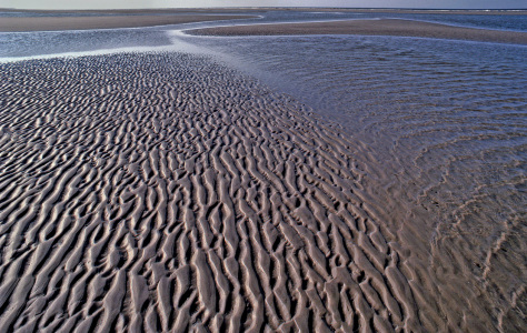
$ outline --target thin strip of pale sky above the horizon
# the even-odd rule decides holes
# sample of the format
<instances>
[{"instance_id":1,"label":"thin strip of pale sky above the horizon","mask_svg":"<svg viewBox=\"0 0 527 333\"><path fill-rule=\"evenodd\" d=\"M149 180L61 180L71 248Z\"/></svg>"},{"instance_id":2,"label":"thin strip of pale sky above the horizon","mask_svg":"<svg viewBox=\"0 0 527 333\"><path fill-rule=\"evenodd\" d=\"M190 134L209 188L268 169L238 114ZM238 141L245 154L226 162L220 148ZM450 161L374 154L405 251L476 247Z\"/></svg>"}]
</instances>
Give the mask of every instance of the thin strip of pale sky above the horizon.
<instances>
[{"instance_id":1,"label":"thin strip of pale sky above the horizon","mask_svg":"<svg viewBox=\"0 0 527 333\"><path fill-rule=\"evenodd\" d=\"M0 0L0 8L136 9L198 7L351 7L430 9L523 9L525 0Z\"/></svg>"}]
</instances>

